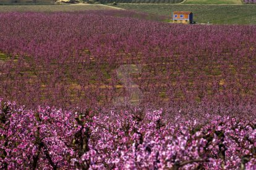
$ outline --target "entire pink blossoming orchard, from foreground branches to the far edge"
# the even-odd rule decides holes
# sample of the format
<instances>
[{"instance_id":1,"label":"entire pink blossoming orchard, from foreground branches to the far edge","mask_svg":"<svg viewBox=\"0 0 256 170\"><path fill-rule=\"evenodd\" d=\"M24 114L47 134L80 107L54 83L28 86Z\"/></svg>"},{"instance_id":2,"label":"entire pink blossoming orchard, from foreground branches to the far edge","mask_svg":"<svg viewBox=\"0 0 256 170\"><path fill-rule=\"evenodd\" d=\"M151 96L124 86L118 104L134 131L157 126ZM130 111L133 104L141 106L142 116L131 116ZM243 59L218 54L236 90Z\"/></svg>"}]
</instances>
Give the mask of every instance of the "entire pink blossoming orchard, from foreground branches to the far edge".
<instances>
[{"instance_id":1,"label":"entire pink blossoming orchard, from foreground branches to the far edge","mask_svg":"<svg viewBox=\"0 0 256 170\"><path fill-rule=\"evenodd\" d=\"M256 168L255 26L0 23L0 169Z\"/></svg>"}]
</instances>

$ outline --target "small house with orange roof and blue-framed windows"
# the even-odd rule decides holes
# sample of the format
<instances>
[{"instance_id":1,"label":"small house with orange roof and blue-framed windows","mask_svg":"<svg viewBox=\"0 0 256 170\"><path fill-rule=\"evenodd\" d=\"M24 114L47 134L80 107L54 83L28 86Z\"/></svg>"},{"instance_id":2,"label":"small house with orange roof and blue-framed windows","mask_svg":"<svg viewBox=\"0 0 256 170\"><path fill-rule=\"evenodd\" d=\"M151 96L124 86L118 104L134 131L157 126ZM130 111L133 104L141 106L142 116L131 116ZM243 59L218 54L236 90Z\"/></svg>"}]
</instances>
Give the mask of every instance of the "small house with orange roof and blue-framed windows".
<instances>
[{"instance_id":1,"label":"small house with orange roof and blue-framed windows","mask_svg":"<svg viewBox=\"0 0 256 170\"><path fill-rule=\"evenodd\" d=\"M173 23L193 23L193 13L188 11L174 11Z\"/></svg>"}]
</instances>

